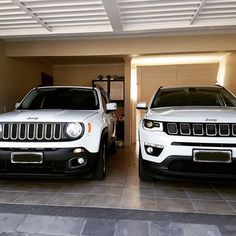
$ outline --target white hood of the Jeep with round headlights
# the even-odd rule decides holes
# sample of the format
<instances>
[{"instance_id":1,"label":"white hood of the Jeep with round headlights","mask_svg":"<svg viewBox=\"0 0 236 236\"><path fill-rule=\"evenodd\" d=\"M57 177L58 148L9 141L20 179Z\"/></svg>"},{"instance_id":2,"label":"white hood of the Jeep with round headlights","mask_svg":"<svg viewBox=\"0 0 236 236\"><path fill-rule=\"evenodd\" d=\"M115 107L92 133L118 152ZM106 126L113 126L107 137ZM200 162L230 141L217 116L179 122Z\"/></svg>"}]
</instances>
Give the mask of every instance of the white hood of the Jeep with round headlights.
<instances>
[{"instance_id":1,"label":"white hood of the Jeep with round headlights","mask_svg":"<svg viewBox=\"0 0 236 236\"><path fill-rule=\"evenodd\" d=\"M16 110L0 115L0 122L83 122L98 111Z\"/></svg>"}]
</instances>

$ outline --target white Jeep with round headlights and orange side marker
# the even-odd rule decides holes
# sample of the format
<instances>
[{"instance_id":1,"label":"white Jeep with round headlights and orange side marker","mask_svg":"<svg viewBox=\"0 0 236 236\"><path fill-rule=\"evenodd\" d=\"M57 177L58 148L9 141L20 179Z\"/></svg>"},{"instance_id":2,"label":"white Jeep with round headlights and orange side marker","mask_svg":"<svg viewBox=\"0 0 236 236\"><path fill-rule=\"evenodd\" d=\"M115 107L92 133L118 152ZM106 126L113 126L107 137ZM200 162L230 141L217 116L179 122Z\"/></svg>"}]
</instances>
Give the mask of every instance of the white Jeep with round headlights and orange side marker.
<instances>
[{"instance_id":1,"label":"white Jeep with round headlights and orange side marker","mask_svg":"<svg viewBox=\"0 0 236 236\"><path fill-rule=\"evenodd\" d=\"M103 179L106 151L115 147L115 109L98 88L32 89L0 115L0 175Z\"/></svg>"}]
</instances>

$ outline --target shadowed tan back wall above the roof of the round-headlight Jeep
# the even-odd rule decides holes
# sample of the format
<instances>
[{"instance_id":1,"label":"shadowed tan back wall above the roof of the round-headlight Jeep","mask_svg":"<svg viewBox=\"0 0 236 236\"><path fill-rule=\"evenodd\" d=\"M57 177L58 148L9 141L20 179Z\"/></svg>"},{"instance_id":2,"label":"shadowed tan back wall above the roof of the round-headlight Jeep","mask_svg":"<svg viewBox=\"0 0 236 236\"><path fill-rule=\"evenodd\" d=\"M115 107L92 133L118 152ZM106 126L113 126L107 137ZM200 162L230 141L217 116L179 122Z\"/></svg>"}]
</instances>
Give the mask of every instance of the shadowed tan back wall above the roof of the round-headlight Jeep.
<instances>
[{"instance_id":1,"label":"shadowed tan back wall above the roof of the round-headlight Jeep","mask_svg":"<svg viewBox=\"0 0 236 236\"><path fill-rule=\"evenodd\" d=\"M124 65L58 65L53 69L55 85L92 86L92 80L98 75L124 76Z\"/></svg>"}]
</instances>

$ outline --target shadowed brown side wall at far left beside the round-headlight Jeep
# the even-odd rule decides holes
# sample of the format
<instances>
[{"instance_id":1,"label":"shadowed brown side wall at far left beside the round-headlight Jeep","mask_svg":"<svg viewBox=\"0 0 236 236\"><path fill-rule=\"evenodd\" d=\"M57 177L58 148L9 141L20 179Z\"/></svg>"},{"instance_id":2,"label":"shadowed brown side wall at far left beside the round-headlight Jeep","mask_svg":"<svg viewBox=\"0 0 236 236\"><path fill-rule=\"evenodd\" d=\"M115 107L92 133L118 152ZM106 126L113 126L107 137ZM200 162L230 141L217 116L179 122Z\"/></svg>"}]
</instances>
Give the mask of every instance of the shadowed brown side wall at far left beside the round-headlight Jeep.
<instances>
[{"instance_id":1,"label":"shadowed brown side wall at far left beside the round-headlight Jeep","mask_svg":"<svg viewBox=\"0 0 236 236\"><path fill-rule=\"evenodd\" d=\"M7 58L5 43L0 41L0 113L14 109L16 102L40 84L41 72L52 74L52 66Z\"/></svg>"}]
</instances>

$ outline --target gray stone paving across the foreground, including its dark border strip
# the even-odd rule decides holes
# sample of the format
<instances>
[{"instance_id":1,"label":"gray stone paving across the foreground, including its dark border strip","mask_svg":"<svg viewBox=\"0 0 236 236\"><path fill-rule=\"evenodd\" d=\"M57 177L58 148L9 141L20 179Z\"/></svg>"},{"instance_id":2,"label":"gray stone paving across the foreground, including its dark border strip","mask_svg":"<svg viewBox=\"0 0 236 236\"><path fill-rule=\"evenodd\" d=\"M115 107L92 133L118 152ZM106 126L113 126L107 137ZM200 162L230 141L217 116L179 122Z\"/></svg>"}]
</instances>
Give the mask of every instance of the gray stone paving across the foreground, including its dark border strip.
<instances>
[{"instance_id":1,"label":"gray stone paving across the foreground, including its dark border strip","mask_svg":"<svg viewBox=\"0 0 236 236\"><path fill-rule=\"evenodd\" d=\"M0 204L3 207L4 204ZM8 209L7 209L8 208ZM33 208L34 214L29 213ZM24 214L19 213L24 209ZM8 236L233 236L236 216L153 211L5 205L0 234ZM86 209L86 210L85 210ZM40 213L41 211L41 213ZM14 213L18 212L18 213Z\"/></svg>"}]
</instances>

